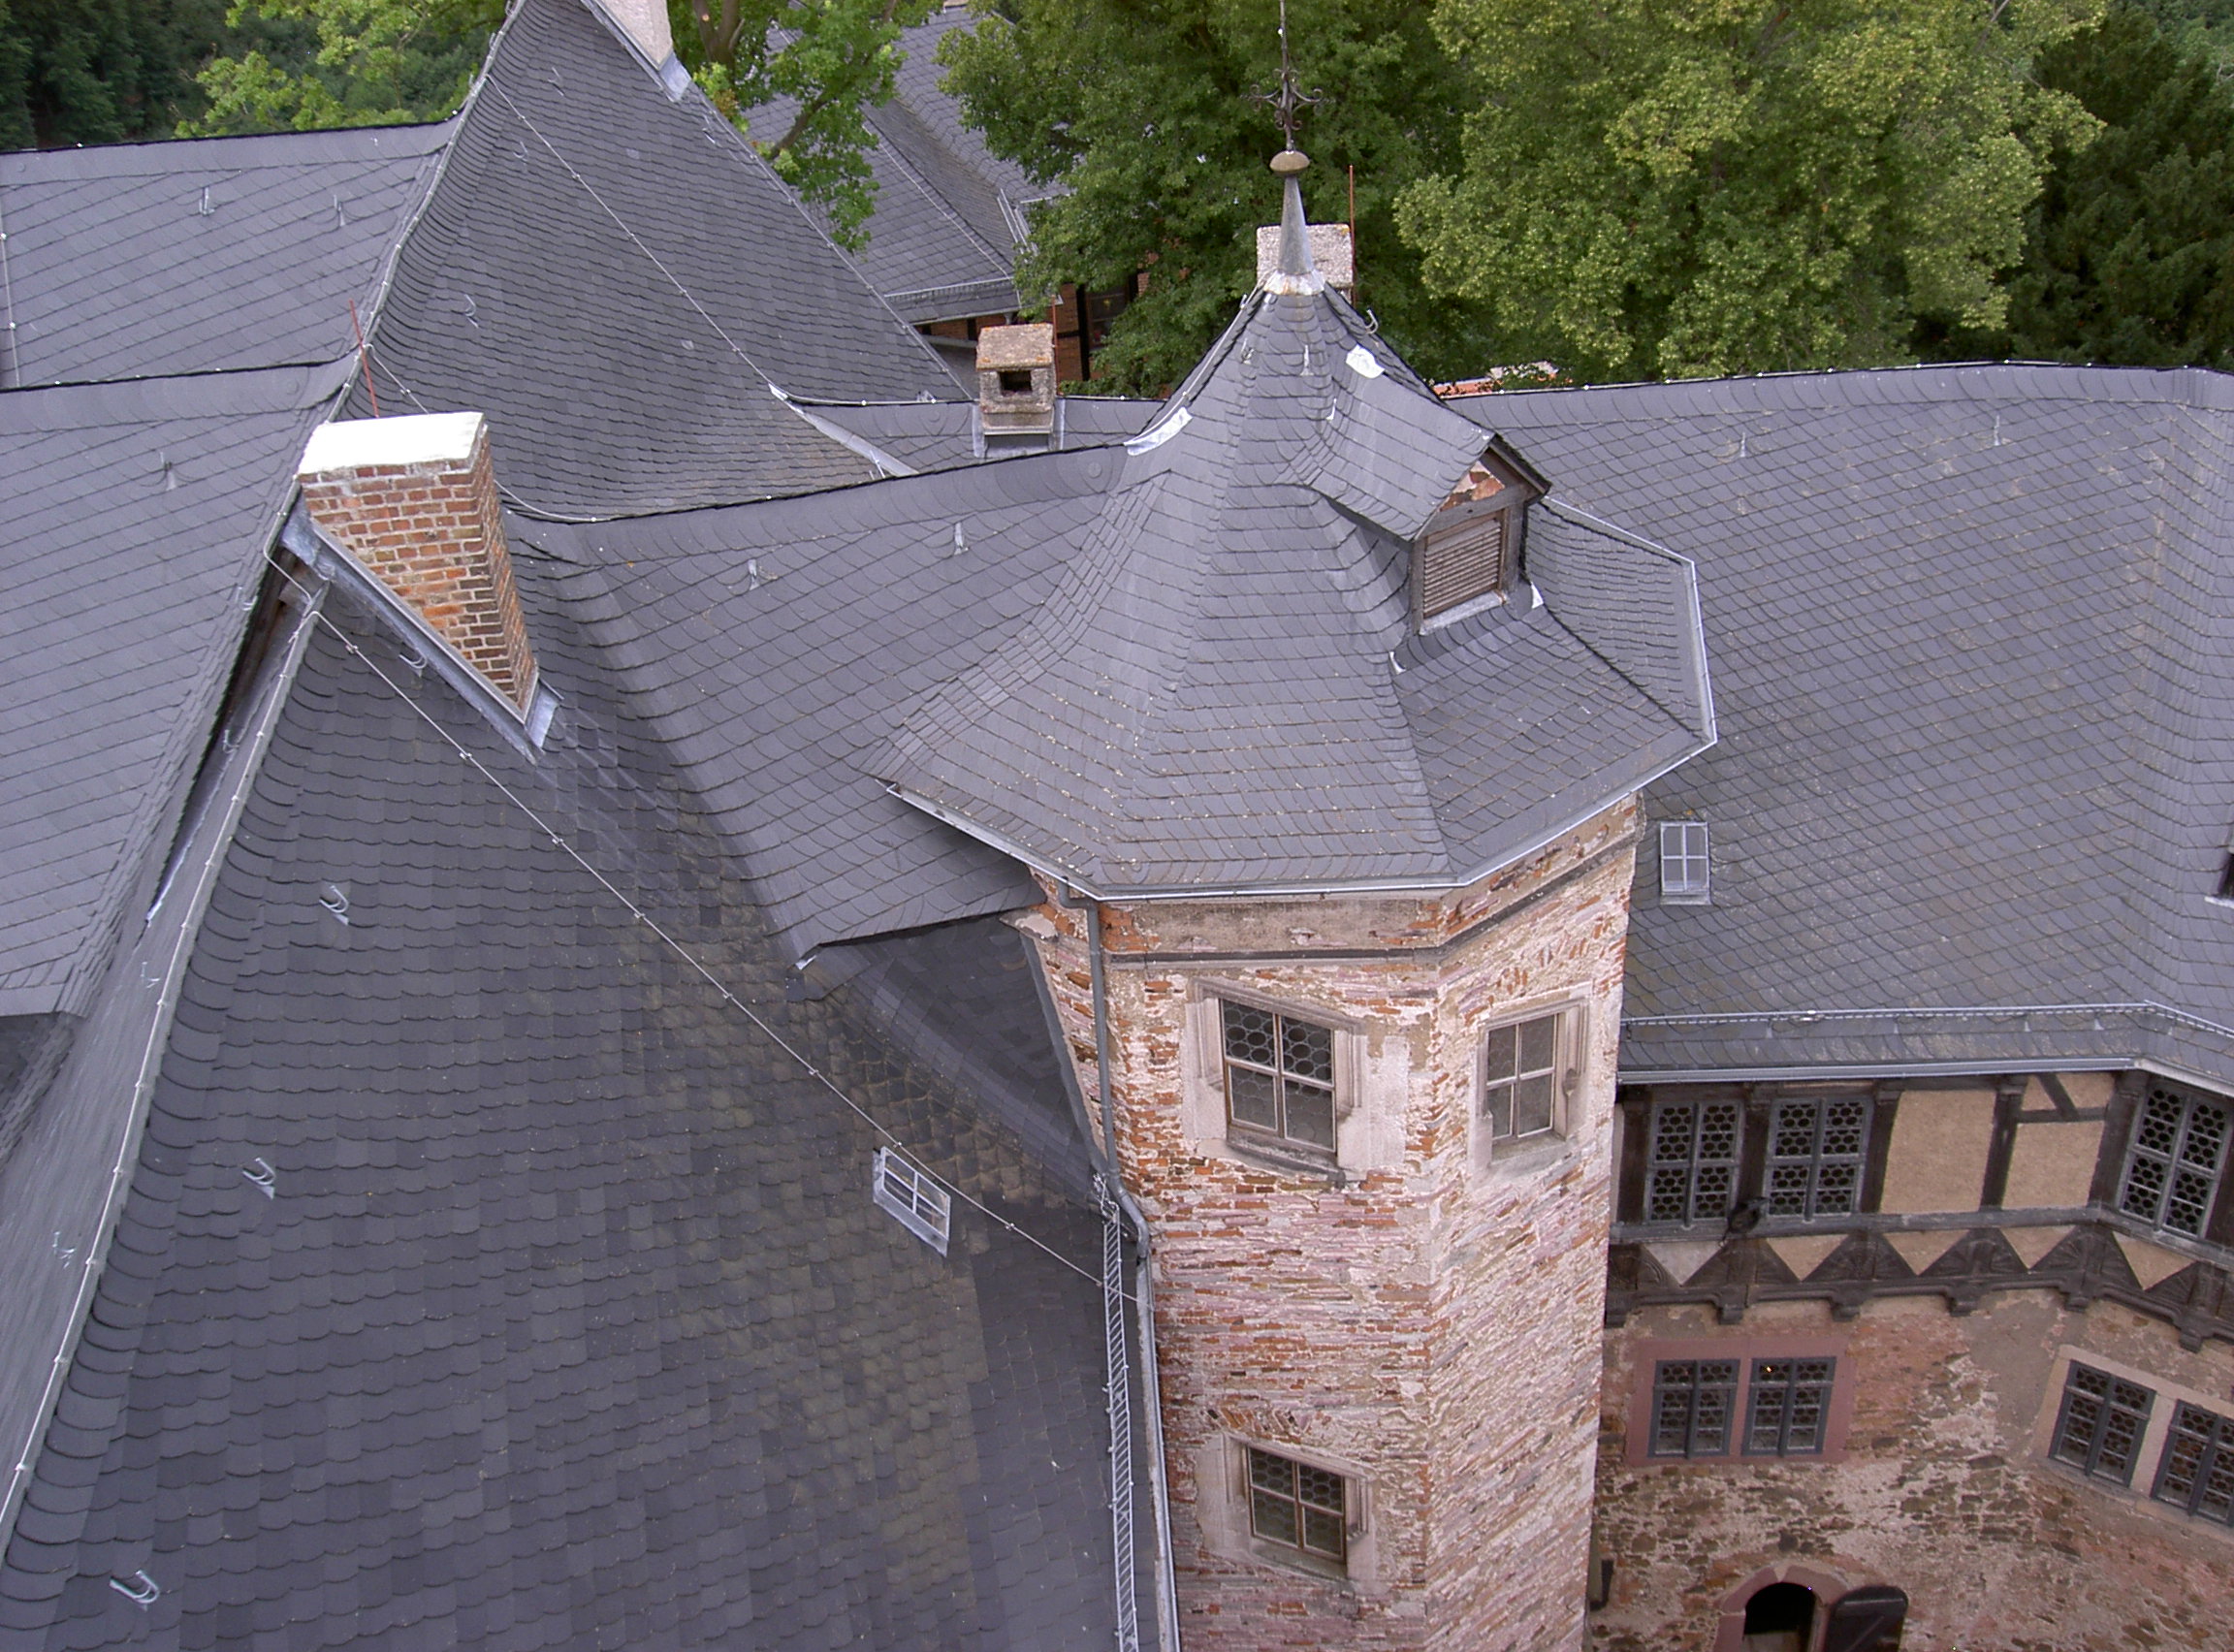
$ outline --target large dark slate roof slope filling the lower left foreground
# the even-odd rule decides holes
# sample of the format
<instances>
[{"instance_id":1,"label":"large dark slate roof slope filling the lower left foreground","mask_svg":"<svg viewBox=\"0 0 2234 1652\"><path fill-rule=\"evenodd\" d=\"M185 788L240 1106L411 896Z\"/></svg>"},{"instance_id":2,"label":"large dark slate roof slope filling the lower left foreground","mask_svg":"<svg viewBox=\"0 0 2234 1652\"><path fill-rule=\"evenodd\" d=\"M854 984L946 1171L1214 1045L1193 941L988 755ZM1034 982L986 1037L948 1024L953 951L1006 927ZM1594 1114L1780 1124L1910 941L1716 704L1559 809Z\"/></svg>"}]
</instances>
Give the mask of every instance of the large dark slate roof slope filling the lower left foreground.
<instances>
[{"instance_id":1,"label":"large dark slate roof slope filling the lower left foreground","mask_svg":"<svg viewBox=\"0 0 2234 1652\"><path fill-rule=\"evenodd\" d=\"M523 598L563 701L541 761L433 679L427 714L918 1161L1092 1268L1043 1170L1075 1134L1034 1156L851 985L786 1007L748 886L532 560ZM0 1639L1106 1648L1095 1279L961 1203L945 1259L873 1208L869 1125L375 679L393 636L340 623L194 944ZM1037 1009L999 944L882 964L1001 1045ZM136 1574L145 1610L109 1587Z\"/></svg>"}]
</instances>

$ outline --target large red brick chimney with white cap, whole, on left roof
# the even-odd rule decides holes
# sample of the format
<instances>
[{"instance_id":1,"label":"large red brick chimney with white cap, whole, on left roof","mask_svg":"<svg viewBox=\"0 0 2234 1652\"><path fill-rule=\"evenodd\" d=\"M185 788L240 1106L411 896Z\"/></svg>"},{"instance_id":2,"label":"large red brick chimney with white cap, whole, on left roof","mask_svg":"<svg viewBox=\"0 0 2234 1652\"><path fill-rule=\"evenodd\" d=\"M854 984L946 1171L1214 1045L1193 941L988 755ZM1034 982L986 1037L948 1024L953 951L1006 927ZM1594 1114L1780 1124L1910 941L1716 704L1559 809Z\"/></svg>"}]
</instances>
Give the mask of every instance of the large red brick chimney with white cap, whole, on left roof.
<instances>
[{"instance_id":1,"label":"large red brick chimney with white cap, whole, on left roof","mask_svg":"<svg viewBox=\"0 0 2234 1652\"><path fill-rule=\"evenodd\" d=\"M525 717L536 654L512 585L489 422L424 413L322 424L295 478L319 531Z\"/></svg>"}]
</instances>

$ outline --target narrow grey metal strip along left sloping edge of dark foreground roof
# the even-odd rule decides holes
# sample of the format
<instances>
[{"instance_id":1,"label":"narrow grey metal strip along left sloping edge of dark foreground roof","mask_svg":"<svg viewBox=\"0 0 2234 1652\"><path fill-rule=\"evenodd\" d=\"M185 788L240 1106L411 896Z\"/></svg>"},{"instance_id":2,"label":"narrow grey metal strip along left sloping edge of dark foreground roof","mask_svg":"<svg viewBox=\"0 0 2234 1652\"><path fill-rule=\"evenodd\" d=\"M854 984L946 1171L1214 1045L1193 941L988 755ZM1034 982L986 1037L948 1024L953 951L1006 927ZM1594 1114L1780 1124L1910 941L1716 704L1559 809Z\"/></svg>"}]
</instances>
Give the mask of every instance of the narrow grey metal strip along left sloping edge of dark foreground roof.
<instances>
[{"instance_id":1,"label":"narrow grey metal strip along left sloping edge of dark foreground roof","mask_svg":"<svg viewBox=\"0 0 2234 1652\"><path fill-rule=\"evenodd\" d=\"M7 1429L4 1438L22 1440L7 1496L0 1498L0 1543L13 1531L25 1485L38 1462L56 1395L69 1373L94 1288L101 1284L116 1237L116 1219L132 1183L132 1165L139 1161L147 1103L170 1043L201 915L208 911L217 873L248 806L248 790L264 766L264 752L311 647L322 605L324 587L308 592L286 643L273 652L246 739L230 750L212 743L212 755L223 755L221 781L212 806L185 828L188 853L181 855L181 864L190 875L165 889L163 900L147 913L139 944L118 951L69 1065L45 1096L31 1134L18 1145L0 1179L0 1255L29 1259L51 1248L58 1266L76 1275L67 1302L54 1297L58 1275L34 1277L31 1270L11 1277L0 1295L0 1331L4 1331L0 1346L7 1348L7 1355L0 1355L0 1427ZM92 1161L96 1150L98 1161ZM107 1188L87 1221L83 1210L67 1210L67 1201L78 1181L101 1174L101 1161L107 1161ZM51 1246L45 1239L49 1228ZM67 1248L65 1239L71 1241ZM31 1373L18 1362L36 1357L47 1346L54 1348L54 1357L38 1386L38 1409L25 1418L20 1404L31 1391Z\"/></svg>"}]
</instances>

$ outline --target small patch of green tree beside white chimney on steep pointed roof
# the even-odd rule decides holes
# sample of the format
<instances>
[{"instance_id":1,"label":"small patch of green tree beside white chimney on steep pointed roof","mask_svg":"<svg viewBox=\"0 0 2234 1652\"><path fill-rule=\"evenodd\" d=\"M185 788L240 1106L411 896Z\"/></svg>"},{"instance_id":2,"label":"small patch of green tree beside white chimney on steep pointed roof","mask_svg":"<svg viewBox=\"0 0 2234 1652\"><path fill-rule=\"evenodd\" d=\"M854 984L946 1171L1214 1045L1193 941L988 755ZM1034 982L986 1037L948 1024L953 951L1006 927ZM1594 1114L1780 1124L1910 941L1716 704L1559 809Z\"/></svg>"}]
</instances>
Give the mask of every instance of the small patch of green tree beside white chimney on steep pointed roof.
<instances>
[{"instance_id":1,"label":"small patch of green tree beside white chimney on steep pointed roof","mask_svg":"<svg viewBox=\"0 0 2234 1652\"><path fill-rule=\"evenodd\" d=\"M891 98L900 33L938 0L668 0L679 56L706 96L860 246L876 208L867 112ZM766 127L766 129L760 129Z\"/></svg>"}]
</instances>

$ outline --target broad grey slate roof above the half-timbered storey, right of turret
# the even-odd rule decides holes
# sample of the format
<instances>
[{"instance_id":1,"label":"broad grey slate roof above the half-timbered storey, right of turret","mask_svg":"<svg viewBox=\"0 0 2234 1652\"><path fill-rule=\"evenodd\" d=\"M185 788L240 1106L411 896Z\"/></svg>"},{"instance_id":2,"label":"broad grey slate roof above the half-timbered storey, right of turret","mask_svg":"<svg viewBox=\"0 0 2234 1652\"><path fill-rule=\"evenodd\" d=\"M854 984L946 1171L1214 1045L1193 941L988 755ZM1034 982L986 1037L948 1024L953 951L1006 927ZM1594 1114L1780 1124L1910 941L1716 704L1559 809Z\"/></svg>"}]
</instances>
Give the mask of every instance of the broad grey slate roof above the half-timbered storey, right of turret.
<instances>
[{"instance_id":1,"label":"broad grey slate roof above the half-timbered storey, right of turret","mask_svg":"<svg viewBox=\"0 0 2234 1652\"><path fill-rule=\"evenodd\" d=\"M1461 406L1698 560L1722 741L1646 804L1711 824L1713 904L1660 906L1644 857L1624 1074L2140 1058L2234 1083L2234 909L2209 900L2234 382L1984 366Z\"/></svg>"}]
</instances>

